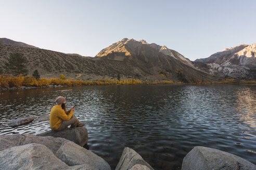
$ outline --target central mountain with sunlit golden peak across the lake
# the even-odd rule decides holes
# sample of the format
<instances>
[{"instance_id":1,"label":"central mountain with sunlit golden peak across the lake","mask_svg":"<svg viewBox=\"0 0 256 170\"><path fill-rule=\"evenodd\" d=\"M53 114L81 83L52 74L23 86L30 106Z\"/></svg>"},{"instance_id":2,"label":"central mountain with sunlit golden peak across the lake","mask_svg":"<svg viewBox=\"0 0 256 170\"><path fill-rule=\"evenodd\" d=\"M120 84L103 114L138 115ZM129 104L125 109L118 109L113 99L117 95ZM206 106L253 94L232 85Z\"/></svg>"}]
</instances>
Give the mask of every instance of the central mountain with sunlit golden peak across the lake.
<instances>
[{"instance_id":1,"label":"central mountain with sunlit golden peak across the lake","mask_svg":"<svg viewBox=\"0 0 256 170\"><path fill-rule=\"evenodd\" d=\"M148 44L145 40L124 38L101 50L96 58L108 62L126 63L137 77L155 77L175 81L184 78L188 82L216 79L196 68L191 61L177 51L165 46ZM177 74L180 74L180 77Z\"/></svg>"}]
</instances>

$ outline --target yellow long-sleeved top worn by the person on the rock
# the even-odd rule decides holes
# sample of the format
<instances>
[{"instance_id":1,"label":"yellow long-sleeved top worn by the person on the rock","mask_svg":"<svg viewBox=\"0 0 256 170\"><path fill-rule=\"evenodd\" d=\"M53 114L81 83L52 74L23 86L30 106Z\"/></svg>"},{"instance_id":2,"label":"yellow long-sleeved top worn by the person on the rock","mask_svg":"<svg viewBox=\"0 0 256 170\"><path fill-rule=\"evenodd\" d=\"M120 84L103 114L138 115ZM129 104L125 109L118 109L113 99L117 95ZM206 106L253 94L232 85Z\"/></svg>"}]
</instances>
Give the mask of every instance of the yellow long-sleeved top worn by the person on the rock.
<instances>
[{"instance_id":1,"label":"yellow long-sleeved top worn by the person on the rock","mask_svg":"<svg viewBox=\"0 0 256 170\"><path fill-rule=\"evenodd\" d=\"M67 115L68 114L68 115ZM50 110L50 129L52 130L58 130L59 126L62 123L62 120L69 120L72 115L73 111L68 110L67 114L65 111L61 108L60 105L55 105L51 110Z\"/></svg>"}]
</instances>

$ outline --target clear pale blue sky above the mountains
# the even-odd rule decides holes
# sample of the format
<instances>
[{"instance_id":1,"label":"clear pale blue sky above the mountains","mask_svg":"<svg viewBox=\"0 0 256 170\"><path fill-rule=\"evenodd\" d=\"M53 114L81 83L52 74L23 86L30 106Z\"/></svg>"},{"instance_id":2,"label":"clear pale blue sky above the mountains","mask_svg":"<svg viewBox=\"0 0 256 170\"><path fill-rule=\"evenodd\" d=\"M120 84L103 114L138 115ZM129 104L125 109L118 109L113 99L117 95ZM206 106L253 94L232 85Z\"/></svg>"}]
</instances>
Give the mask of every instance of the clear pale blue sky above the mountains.
<instances>
[{"instance_id":1,"label":"clear pale blue sky above the mountains","mask_svg":"<svg viewBox=\"0 0 256 170\"><path fill-rule=\"evenodd\" d=\"M194 61L256 43L255 18L255 0L0 0L0 37L84 56L123 38L144 39Z\"/></svg>"}]
</instances>

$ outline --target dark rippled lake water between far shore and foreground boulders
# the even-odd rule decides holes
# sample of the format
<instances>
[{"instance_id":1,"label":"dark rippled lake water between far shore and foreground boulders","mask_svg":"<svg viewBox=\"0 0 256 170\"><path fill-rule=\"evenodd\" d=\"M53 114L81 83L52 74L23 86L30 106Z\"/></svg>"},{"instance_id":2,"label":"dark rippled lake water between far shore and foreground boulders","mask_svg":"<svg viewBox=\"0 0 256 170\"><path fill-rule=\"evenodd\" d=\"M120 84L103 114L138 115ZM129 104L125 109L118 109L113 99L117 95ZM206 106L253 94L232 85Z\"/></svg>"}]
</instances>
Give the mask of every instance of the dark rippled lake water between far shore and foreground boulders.
<instances>
[{"instance_id":1,"label":"dark rippled lake water between far shore and foreground boulders","mask_svg":"<svg viewBox=\"0 0 256 170\"><path fill-rule=\"evenodd\" d=\"M57 90L72 89L67 92ZM18 92L18 93L17 93ZM255 86L133 85L48 88L0 94L0 135L40 134L49 122L55 98L65 96L67 108L88 130L89 150L116 167L124 147L138 152L155 169L180 169L195 146L238 155L256 164ZM25 116L35 120L8 127Z\"/></svg>"}]
</instances>

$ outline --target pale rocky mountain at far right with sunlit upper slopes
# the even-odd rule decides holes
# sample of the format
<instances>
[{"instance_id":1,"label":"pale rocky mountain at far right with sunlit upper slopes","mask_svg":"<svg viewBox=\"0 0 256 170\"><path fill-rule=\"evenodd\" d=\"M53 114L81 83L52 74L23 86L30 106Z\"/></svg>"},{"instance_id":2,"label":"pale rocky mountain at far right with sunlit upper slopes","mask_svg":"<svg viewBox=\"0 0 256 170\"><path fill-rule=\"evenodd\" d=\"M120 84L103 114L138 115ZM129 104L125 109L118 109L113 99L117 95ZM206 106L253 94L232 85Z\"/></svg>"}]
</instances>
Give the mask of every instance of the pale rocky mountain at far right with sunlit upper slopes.
<instances>
[{"instance_id":1,"label":"pale rocky mountain at far right with sunlit upper slopes","mask_svg":"<svg viewBox=\"0 0 256 170\"><path fill-rule=\"evenodd\" d=\"M197 59L195 66L225 78L255 80L256 43L224 49L209 58Z\"/></svg>"}]
</instances>

